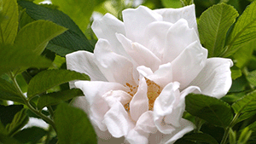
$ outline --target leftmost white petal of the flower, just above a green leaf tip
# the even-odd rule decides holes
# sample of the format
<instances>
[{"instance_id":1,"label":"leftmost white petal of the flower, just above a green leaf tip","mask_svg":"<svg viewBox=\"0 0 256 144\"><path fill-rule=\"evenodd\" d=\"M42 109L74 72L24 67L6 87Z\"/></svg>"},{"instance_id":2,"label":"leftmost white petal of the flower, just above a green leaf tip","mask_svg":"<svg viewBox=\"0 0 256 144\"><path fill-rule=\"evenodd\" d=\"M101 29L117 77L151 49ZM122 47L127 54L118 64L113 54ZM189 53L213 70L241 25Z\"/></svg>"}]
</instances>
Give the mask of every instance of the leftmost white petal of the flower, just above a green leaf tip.
<instances>
[{"instance_id":1,"label":"leftmost white petal of the flower, just above a green leaf tip","mask_svg":"<svg viewBox=\"0 0 256 144\"><path fill-rule=\"evenodd\" d=\"M91 81L107 81L88 51L76 51L66 55L67 69L90 76Z\"/></svg>"}]
</instances>

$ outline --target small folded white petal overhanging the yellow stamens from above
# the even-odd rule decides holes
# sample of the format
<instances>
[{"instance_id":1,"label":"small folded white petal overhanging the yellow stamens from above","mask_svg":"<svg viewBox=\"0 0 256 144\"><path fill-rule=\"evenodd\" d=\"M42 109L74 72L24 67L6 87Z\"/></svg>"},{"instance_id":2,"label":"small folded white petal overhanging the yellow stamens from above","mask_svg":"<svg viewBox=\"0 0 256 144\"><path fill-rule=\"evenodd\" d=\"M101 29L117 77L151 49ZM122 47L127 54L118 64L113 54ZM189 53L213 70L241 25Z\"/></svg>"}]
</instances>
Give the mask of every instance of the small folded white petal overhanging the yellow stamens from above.
<instances>
[{"instance_id":1,"label":"small folded white petal overhanging the yellow stamens from above","mask_svg":"<svg viewBox=\"0 0 256 144\"><path fill-rule=\"evenodd\" d=\"M161 88L164 88L167 84L172 82L172 64L170 62L160 65L159 69L154 73L146 66L138 66L137 71L144 77L154 81L154 83L158 84Z\"/></svg>"}]
</instances>

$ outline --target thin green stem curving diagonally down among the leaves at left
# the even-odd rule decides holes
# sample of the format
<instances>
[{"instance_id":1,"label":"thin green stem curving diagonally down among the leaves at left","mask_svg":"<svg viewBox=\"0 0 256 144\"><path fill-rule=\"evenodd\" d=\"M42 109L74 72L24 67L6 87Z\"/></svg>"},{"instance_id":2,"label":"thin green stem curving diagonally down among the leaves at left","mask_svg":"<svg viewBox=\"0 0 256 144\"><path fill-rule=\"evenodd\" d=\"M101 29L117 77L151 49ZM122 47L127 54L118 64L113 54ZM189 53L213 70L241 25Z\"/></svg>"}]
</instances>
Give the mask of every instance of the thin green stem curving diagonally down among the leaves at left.
<instances>
[{"instance_id":1,"label":"thin green stem curving diagonally down among the leaves at left","mask_svg":"<svg viewBox=\"0 0 256 144\"><path fill-rule=\"evenodd\" d=\"M26 96L23 95L23 92L20 89L19 84L16 81L15 75L13 75L13 73L9 73L10 78L12 79L12 81L14 82L15 85L15 89L18 91L20 98L24 101L24 104L32 111L34 112L36 115L38 115L40 118L44 119L44 121L48 124L50 124L53 129L56 131L55 128L55 123L53 120L51 120L50 118L48 118L47 116L45 116L43 113L38 112L34 107L32 107L32 105L29 103L29 101L26 100Z\"/></svg>"}]
</instances>

